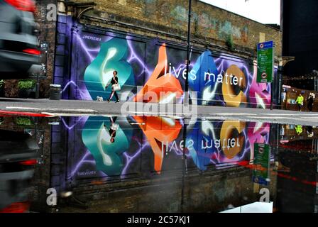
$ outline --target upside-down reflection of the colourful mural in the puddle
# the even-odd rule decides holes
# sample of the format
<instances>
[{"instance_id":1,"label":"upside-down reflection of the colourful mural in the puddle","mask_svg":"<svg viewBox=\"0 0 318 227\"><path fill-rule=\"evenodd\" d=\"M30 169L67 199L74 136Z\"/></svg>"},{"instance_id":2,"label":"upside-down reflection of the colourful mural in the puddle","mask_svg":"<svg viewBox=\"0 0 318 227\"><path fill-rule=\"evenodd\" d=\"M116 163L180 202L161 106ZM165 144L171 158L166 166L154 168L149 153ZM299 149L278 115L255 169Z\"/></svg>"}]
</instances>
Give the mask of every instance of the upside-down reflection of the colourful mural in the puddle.
<instances>
[{"instance_id":1,"label":"upside-down reflection of the colourful mural in the puddle","mask_svg":"<svg viewBox=\"0 0 318 227\"><path fill-rule=\"evenodd\" d=\"M71 175L82 178L128 177L145 172L161 174L181 168L184 145L189 168L204 171L209 166L231 167L252 162L253 144L268 143L270 131L269 123L197 121L187 130L184 143L182 120L157 116L119 117L114 120L114 135L112 119L91 116L77 128L79 133L75 134L80 138L75 141L82 143L75 145L75 154L82 158L72 162ZM112 142L111 135L114 136Z\"/></svg>"}]
</instances>

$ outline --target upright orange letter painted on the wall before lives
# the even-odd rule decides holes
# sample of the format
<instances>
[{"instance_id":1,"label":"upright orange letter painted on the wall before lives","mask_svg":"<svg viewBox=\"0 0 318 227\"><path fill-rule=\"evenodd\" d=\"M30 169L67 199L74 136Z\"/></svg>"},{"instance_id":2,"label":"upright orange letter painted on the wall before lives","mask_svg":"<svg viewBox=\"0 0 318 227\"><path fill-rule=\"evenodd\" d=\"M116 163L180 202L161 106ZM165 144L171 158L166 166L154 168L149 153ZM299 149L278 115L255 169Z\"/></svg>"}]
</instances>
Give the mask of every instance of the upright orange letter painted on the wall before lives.
<instances>
[{"instance_id":1,"label":"upright orange letter painted on the wall before lives","mask_svg":"<svg viewBox=\"0 0 318 227\"><path fill-rule=\"evenodd\" d=\"M160 92L163 92L160 95ZM168 72L168 57L165 44L159 48L158 63L150 78L133 101L160 102L168 97L180 98L183 94L181 84L177 78Z\"/></svg>"}]
</instances>

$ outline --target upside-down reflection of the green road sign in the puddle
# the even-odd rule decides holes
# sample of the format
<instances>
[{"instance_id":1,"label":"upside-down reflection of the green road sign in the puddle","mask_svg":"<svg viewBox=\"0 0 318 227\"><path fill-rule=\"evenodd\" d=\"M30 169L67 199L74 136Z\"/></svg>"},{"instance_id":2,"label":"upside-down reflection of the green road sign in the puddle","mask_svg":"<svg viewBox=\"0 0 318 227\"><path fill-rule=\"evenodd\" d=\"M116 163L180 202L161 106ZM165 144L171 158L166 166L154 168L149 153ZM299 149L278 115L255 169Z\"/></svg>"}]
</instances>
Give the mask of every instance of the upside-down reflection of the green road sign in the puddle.
<instances>
[{"instance_id":1,"label":"upside-down reflection of the green road sign in the puddle","mask_svg":"<svg viewBox=\"0 0 318 227\"><path fill-rule=\"evenodd\" d=\"M268 185L270 175L270 146L254 143L253 182Z\"/></svg>"}]
</instances>

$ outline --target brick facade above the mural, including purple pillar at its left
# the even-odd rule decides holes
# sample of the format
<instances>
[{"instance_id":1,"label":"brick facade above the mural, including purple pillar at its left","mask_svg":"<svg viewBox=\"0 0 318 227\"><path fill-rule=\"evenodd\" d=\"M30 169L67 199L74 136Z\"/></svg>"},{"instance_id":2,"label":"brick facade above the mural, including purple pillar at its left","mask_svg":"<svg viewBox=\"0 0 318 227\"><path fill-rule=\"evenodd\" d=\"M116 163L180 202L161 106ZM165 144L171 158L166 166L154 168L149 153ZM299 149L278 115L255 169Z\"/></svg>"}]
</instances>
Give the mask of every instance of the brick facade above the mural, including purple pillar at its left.
<instances>
[{"instance_id":1,"label":"brick facade above the mural, including purple pillar at its left","mask_svg":"<svg viewBox=\"0 0 318 227\"><path fill-rule=\"evenodd\" d=\"M58 5L57 21L47 21L48 4ZM65 87L70 82L72 40L70 31L77 25L92 26L100 31L116 31L164 40L185 48L187 36L187 3L185 1L37 1L40 41L48 44L46 77L40 80L40 98L48 98L49 85ZM213 53L229 54L253 65L256 44L274 40L276 60L281 56L282 33L235 13L201 1L192 1L192 46ZM182 56L183 57L183 56ZM180 59L184 61L185 57ZM53 75L54 74L54 75ZM69 98L72 88L63 94ZM17 80L6 81L6 96L18 96ZM71 97L72 98L72 97Z\"/></svg>"}]
</instances>

